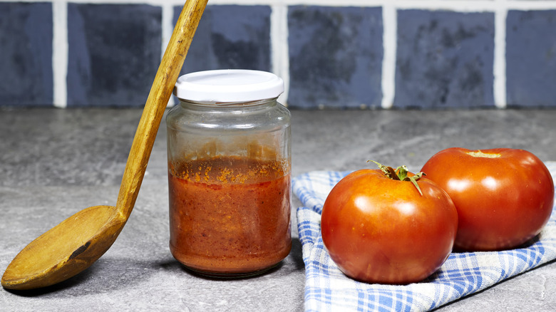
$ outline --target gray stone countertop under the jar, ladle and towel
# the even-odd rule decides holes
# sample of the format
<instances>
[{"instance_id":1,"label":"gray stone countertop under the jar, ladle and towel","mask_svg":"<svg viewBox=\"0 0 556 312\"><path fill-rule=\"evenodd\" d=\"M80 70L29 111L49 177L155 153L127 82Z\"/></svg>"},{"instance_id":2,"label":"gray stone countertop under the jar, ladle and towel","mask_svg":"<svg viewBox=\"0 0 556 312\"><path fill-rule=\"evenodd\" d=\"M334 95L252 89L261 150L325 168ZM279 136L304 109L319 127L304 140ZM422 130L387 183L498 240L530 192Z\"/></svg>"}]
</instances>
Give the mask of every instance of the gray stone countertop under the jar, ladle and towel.
<instances>
[{"instance_id":1,"label":"gray stone countertop under the jar, ladle and towel","mask_svg":"<svg viewBox=\"0 0 556 312\"><path fill-rule=\"evenodd\" d=\"M115 204L141 110L0 108L0 269L79 210ZM356 170L367 160L418 170L447 147L522 148L556 160L556 110L292 111L292 170ZM190 274L168 249L165 123L135 209L115 244L83 273L35 291L0 291L2 311L302 311L304 264L293 199L292 252L250 279ZM441 311L552 311L556 264Z\"/></svg>"}]
</instances>

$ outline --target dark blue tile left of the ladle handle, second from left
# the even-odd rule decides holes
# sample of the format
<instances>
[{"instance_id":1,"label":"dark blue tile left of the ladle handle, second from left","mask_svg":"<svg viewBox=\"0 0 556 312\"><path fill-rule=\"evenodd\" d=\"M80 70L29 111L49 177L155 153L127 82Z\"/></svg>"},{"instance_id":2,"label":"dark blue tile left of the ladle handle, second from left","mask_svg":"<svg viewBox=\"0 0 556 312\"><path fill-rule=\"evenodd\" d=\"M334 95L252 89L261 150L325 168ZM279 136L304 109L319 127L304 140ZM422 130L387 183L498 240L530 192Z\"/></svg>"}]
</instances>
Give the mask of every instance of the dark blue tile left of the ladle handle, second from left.
<instances>
[{"instance_id":1,"label":"dark blue tile left of the ladle handle, second from left","mask_svg":"<svg viewBox=\"0 0 556 312\"><path fill-rule=\"evenodd\" d=\"M68 4L68 106L141 106L160 64L162 9Z\"/></svg>"}]
</instances>

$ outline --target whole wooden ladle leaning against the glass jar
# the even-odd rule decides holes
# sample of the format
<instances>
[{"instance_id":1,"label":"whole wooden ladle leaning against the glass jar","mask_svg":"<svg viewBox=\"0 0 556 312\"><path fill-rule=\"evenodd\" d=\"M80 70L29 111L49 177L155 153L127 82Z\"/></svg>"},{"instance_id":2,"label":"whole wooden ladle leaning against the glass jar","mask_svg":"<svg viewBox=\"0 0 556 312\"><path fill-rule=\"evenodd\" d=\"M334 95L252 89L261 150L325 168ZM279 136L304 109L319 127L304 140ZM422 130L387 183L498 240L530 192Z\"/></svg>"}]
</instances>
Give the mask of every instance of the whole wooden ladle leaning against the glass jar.
<instances>
[{"instance_id":1,"label":"whole wooden ladle leaning against the glass jar","mask_svg":"<svg viewBox=\"0 0 556 312\"><path fill-rule=\"evenodd\" d=\"M120 234L131 214L177 76L208 0L187 0L150 89L125 165L116 206L81 210L31 241L2 276L9 289L50 286L87 269Z\"/></svg>"}]
</instances>

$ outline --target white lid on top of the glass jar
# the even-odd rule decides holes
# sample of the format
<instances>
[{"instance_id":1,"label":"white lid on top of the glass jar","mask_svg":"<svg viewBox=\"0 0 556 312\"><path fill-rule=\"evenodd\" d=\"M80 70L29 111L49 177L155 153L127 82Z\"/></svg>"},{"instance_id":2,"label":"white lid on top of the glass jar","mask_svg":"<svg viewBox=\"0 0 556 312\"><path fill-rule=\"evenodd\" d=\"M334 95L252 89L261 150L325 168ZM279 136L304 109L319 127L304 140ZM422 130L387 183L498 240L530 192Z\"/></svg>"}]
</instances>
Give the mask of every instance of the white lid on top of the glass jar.
<instances>
[{"instance_id":1,"label":"white lid on top of the glass jar","mask_svg":"<svg viewBox=\"0 0 556 312\"><path fill-rule=\"evenodd\" d=\"M177 79L174 95L202 103L235 103L277 98L282 78L266 71L225 69L188 73Z\"/></svg>"}]
</instances>

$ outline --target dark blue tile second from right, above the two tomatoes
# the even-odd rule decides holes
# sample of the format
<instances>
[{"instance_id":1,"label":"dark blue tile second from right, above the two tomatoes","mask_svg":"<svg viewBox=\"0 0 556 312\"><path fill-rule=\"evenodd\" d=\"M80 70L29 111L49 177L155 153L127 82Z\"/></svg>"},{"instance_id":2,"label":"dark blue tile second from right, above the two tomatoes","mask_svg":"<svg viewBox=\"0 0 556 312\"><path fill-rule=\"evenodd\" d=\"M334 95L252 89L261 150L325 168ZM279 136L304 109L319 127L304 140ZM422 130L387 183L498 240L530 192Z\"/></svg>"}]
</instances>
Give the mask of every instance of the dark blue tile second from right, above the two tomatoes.
<instances>
[{"instance_id":1,"label":"dark blue tile second from right, above the two tomatoes","mask_svg":"<svg viewBox=\"0 0 556 312\"><path fill-rule=\"evenodd\" d=\"M396 108L493 107L494 14L398 11Z\"/></svg>"}]
</instances>

